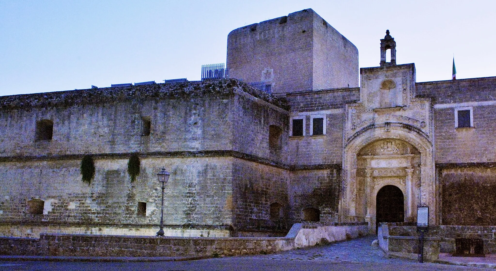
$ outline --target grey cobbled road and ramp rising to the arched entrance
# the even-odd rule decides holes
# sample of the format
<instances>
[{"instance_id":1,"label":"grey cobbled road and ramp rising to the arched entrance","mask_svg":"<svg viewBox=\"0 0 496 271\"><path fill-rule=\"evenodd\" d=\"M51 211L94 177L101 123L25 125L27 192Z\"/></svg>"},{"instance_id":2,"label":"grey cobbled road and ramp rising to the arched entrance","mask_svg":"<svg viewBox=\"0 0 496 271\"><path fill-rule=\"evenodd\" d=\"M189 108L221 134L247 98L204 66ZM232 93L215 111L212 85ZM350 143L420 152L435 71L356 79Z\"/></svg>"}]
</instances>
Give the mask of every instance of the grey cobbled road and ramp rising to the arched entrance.
<instances>
[{"instance_id":1,"label":"grey cobbled road and ramp rising to the arched entrance","mask_svg":"<svg viewBox=\"0 0 496 271\"><path fill-rule=\"evenodd\" d=\"M0 271L480 271L494 270L389 259L375 236L269 255L186 262L0 262Z\"/></svg>"}]
</instances>

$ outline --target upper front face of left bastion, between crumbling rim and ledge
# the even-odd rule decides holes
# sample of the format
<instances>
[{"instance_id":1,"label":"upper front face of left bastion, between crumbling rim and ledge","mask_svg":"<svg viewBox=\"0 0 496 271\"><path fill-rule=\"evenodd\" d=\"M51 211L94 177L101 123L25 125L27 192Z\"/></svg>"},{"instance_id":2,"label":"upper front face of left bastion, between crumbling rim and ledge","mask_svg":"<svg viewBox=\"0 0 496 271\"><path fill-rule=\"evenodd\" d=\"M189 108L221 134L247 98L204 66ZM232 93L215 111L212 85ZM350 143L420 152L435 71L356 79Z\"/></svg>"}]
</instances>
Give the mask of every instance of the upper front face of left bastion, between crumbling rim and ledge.
<instances>
[{"instance_id":1,"label":"upper front face of left bastion, between crumbling rim and ledge","mask_svg":"<svg viewBox=\"0 0 496 271\"><path fill-rule=\"evenodd\" d=\"M2 156L229 150L233 99L115 102L69 108L1 112ZM151 116L150 136L141 136L141 116ZM35 141L36 121L54 122L53 140ZM21 131L21 132L19 132ZM167 142L167 144L163 144Z\"/></svg>"}]
</instances>

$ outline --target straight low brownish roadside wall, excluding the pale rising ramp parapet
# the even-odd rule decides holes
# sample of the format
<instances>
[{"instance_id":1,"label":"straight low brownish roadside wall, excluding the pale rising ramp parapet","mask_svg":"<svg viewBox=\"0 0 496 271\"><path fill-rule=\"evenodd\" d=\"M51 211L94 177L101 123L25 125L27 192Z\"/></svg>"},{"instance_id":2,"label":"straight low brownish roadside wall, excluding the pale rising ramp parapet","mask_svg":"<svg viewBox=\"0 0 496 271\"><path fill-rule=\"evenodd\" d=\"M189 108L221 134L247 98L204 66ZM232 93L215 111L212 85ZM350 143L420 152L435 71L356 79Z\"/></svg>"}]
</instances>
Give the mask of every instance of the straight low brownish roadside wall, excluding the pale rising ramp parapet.
<instances>
[{"instance_id":1,"label":"straight low brownish roadside wall, excluding the pale rising ramp parapet","mask_svg":"<svg viewBox=\"0 0 496 271\"><path fill-rule=\"evenodd\" d=\"M294 238L207 238L119 235L48 235L40 239L0 237L1 255L87 257L211 257L274 253L292 249ZM112 244L109 246L109 244Z\"/></svg>"}]
</instances>

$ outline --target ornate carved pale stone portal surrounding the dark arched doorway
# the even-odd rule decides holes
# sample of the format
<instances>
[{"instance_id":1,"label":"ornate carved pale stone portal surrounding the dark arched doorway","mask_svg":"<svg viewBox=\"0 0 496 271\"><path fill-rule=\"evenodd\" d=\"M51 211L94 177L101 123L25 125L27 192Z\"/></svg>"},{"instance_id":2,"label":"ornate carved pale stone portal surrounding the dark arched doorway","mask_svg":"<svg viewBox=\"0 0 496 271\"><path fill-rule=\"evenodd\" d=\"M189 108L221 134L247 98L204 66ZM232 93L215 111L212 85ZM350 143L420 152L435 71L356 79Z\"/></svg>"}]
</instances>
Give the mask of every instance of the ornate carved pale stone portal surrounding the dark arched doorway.
<instances>
[{"instance_id":1,"label":"ornate carved pale stone portal surrounding the dark arched doorway","mask_svg":"<svg viewBox=\"0 0 496 271\"><path fill-rule=\"evenodd\" d=\"M414 64L386 64L360 69L360 102L346 105L339 219L368 221L375 231L377 192L393 185L404 195L405 221L415 221L423 204L434 225L431 101L416 97Z\"/></svg>"}]
</instances>

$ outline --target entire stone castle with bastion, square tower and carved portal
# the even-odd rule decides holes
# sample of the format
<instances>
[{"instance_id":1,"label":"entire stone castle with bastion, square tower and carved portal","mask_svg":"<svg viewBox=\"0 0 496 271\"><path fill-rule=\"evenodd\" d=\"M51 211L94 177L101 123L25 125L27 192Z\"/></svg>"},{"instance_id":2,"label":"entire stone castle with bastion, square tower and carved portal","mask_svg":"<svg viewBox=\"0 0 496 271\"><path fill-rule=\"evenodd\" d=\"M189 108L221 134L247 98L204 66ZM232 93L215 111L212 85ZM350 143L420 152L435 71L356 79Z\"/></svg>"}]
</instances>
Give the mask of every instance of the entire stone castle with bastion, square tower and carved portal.
<instances>
[{"instance_id":1,"label":"entire stone castle with bastion, square tower and carved portal","mask_svg":"<svg viewBox=\"0 0 496 271\"><path fill-rule=\"evenodd\" d=\"M418 83L389 32L379 66L359 69L311 9L233 30L227 68L0 97L0 235L154 235L162 167L166 235L374 232L417 206L433 226L496 225L496 77Z\"/></svg>"}]
</instances>

